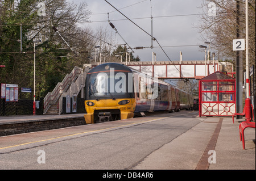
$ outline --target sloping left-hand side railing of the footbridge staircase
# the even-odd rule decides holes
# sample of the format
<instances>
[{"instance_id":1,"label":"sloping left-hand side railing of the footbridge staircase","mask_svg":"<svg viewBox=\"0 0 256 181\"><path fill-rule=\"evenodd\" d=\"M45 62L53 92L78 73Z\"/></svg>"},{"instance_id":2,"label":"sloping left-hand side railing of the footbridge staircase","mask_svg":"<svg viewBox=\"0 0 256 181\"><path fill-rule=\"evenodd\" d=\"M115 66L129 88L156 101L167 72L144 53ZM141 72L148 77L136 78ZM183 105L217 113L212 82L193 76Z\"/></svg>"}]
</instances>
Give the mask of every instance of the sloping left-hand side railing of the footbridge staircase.
<instances>
[{"instance_id":1,"label":"sloping left-hand side railing of the footbridge staircase","mask_svg":"<svg viewBox=\"0 0 256 181\"><path fill-rule=\"evenodd\" d=\"M76 81L76 78L81 74L82 69L75 67L70 74L67 74L62 82L57 83L55 89L52 92L48 92L44 98L44 114L47 112L51 104L54 104L57 99L67 91L68 87Z\"/></svg>"}]
</instances>

